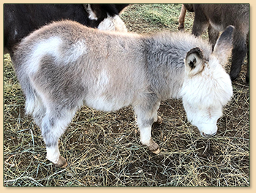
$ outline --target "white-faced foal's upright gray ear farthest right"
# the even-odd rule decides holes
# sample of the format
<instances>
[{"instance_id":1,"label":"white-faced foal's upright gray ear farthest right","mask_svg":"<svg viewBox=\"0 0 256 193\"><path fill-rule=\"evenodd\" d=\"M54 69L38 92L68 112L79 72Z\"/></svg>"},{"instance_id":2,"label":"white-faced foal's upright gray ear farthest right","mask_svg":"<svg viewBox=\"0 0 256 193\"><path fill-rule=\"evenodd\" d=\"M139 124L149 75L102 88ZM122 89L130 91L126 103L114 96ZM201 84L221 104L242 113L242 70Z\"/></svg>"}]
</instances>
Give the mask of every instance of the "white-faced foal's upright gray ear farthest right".
<instances>
[{"instance_id":1,"label":"white-faced foal's upright gray ear farthest right","mask_svg":"<svg viewBox=\"0 0 256 193\"><path fill-rule=\"evenodd\" d=\"M227 64L228 57L231 54L233 48L233 31L234 26L227 26L225 31L220 35L219 39L217 40L216 45L214 46L214 56L216 56L222 64L225 66Z\"/></svg>"}]
</instances>

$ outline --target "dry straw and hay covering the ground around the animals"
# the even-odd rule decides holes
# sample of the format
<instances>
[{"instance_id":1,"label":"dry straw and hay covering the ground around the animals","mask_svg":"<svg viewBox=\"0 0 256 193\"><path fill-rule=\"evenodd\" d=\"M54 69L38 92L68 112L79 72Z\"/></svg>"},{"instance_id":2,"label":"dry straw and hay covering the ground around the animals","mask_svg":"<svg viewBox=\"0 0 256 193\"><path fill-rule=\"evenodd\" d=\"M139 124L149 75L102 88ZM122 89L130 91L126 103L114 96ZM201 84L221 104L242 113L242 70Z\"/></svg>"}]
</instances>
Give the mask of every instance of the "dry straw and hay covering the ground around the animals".
<instances>
[{"instance_id":1,"label":"dry straw and hay covering the ground around the animals","mask_svg":"<svg viewBox=\"0 0 256 193\"><path fill-rule=\"evenodd\" d=\"M165 7L165 9L163 9ZM181 4L135 4L122 16L129 31L177 31ZM162 18L161 17L164 17ZM192 13L187 14L191 31ZM227 67L227 70L230 67ZM68 167L45 159L39 128L24 115L24 97L4 56L4 186L249 186L249 86L245 69L211 138L189 124L181 100L162 102L152 135L161 153L140 145L130 107L105 113L83 107L60 139Z\"/></svg>"}]
</instances>

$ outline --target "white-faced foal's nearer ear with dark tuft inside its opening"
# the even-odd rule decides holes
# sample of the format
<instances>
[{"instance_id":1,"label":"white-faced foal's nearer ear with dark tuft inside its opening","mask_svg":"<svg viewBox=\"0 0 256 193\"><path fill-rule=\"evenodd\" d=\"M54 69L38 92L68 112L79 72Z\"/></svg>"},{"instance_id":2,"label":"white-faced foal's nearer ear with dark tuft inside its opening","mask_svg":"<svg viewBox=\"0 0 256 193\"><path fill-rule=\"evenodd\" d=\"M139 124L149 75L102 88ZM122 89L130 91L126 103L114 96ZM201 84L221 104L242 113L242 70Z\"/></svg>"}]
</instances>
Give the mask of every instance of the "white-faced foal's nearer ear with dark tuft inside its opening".
<instances>
[{"instance_id":1,"label":"white-faced foal's nearer ear with dark tuft inside its opening","mask_svg":"<svg viewBox=\"0 0 256 193\"><path fill-rule=\"evenodd\" d=\"M196 75L204 68L203 53L200 48L192 48L184 59L185 69L189 75Z\"/></svg>"}]
</instances>

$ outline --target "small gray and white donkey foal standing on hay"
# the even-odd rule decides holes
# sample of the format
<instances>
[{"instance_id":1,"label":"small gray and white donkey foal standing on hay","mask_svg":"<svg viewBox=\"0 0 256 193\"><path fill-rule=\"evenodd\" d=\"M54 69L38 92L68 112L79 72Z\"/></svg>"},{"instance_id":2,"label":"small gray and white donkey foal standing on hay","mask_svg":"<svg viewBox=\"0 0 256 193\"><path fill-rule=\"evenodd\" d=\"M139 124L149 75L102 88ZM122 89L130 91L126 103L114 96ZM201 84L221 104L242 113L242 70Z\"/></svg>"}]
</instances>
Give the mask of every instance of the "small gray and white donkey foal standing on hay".
<instances>
[{"instance_id":1,"label":"small gray and white donkey foal standing on hay","mask_svg":"<svg viewBox=\"0 0 256 193\"><path fill-rule=\"evenodd\" d=\"M151 125L161 122L161 100L183 99L200 134L215 135L222 107L233 95L224 69L232 34L228 26L212 52L208 42L186 33L106 32L69 20L34 31L20 42L13 64L47 158L67 165L58 141L82 105L105 111L132 105L140 141L155 154L159 145L151 139Z\"/></svg>"}]
</instances>

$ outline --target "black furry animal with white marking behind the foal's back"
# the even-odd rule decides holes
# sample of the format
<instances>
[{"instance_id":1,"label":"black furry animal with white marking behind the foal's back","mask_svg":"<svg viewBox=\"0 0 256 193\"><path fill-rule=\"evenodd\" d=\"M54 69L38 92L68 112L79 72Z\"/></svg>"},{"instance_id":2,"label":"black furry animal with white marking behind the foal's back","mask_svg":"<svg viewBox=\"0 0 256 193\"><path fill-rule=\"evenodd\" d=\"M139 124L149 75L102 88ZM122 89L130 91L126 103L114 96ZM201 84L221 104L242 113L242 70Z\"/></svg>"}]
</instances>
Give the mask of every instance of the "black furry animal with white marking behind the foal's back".
<instances>
[{"instance_id":1,"label":"black furry animal with white marking behind the foal's back","mask_svg":"<svg viewBox=\"0 0 256 193\"><path fill-rule=\"evenodd\" d=\"M4 4L4 53L12 57L23 37L45 24L75 20L97 28L105 18L114 18L128 4ZM121 20L121 19L120 19Z\"/></svg>"}]
</instances>

